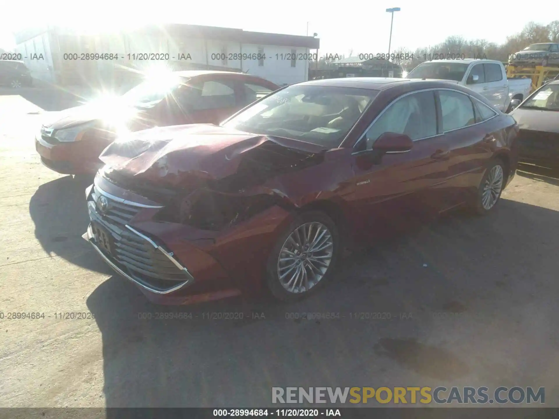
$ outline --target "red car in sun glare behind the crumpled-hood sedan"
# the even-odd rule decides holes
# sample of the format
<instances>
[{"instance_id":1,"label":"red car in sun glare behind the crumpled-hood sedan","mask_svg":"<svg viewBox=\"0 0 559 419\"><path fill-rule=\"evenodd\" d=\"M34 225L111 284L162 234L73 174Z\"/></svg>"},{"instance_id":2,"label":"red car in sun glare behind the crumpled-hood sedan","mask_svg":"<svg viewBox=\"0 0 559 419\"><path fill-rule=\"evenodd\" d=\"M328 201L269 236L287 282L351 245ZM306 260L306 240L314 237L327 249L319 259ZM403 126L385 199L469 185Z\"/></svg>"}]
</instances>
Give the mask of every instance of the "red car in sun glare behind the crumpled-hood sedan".
<instances>
[{"instance_id":1,"label":"red car in sun glare behind the crumpled-hood sedan","mask_svg":"<svg viewBox=\"0 0 559 419\"><path fill-rule=\"evenodd\" d=\"M161 74L121 97L66 109L41 128L35 148L42 163L63 174L94 174L117 136L154 126L220 123L277 90L253 75L217 71Z\"/></svg>"}]
</instances>

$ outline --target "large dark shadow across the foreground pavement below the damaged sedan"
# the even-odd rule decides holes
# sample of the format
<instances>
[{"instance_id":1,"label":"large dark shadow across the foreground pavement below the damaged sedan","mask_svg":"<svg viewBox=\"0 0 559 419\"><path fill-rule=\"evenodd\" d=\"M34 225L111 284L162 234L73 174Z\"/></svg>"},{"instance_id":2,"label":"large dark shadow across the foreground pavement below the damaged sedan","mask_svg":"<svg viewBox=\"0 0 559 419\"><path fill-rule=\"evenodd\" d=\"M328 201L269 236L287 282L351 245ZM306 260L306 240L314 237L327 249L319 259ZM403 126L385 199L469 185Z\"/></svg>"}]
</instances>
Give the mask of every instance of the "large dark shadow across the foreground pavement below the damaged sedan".
<instances>
[{"instance_id":1,"label":"large dark shadow across the foreground pavement below the damaged sedan","mask_svg":"<svg viewBox=\"0 0 559 419\"><path fill-rule=\"evenodd\" d=\"M559 247L559 212L506 199L495 209L486 217L453 213L358 251L328 287L297 303L155 306L113 276L87 299L102 334L106 406L271 407L272 387L501 379L504 372L476 361L477 348L498 353L507 340L500 334L522 335L506 310L495 310L554 298L541 278L559 269L544 253ZM439 311L491 318L477 327L498 332L449 349L444 341L461 332L435 324Z\"/></svg>"}]
</instances>

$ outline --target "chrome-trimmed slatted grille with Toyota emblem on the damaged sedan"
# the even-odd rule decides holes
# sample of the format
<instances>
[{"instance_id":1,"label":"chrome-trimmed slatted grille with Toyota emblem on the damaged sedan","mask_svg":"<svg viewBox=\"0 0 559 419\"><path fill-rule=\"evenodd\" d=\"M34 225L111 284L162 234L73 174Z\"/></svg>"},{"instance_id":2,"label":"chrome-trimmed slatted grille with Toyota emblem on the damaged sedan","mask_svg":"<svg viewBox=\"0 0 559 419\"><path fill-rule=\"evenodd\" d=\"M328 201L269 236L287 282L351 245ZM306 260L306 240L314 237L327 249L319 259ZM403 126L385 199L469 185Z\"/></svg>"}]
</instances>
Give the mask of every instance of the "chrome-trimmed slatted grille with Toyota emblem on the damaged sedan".
<instances>
[{"instance_id":1,"label":"chrome-trimmed slatted grille with Toyota emblem on the damaged sedan","mask_svg":"<svg viewBox=\"0 0 559 419\"><path fill-rule=\"evenodd\" d=\"M103 214L97 207L101 196L108 201L108 209ZM147 283L165 280L174 284L190 278L157 247L126 227L141 211L141 207L115 201L97 187L93 187L87 204L91 220L100 223L113 237L115 254L111 257L124 266L132 277Z\"/></svg>"}]
</instances>

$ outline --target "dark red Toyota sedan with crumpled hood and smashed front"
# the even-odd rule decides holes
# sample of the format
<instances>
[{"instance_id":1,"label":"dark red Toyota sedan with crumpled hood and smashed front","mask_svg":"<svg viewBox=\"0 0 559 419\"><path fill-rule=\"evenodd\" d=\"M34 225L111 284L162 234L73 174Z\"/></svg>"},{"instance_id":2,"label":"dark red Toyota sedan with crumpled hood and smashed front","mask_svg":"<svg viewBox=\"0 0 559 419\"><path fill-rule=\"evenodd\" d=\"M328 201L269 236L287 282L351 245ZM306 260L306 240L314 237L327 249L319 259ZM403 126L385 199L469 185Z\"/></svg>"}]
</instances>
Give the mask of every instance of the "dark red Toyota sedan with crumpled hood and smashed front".
<instances>
[{"instance_id":1,"label":"dark red Toyota sedan with crumpled hood and smashed front","mask_svg":"<svg viewBox=\"0 0 559 419\"><path fill-rule=\"evenodd\" d=\"M221 125L152 128L103 151L84 238L156 303L316 292L378 228L494 209L518 126L446 82L287 86Z\"/></svg>"}]
</instances>

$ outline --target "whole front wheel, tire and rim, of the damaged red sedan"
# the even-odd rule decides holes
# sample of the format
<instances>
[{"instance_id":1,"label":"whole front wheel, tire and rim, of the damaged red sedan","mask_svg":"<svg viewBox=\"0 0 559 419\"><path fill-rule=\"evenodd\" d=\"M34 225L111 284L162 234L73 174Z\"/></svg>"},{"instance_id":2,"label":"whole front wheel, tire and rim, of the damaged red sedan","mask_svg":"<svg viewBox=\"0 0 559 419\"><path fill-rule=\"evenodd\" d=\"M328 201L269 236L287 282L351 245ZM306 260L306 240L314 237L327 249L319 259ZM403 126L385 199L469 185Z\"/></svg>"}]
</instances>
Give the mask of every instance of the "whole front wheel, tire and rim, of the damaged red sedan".
<instances>
[{"instance_id":1,"label":"whole front wheel, tire and rim, of the damaged red sedan","mask_svg":"<svg viewBox=\"0 0 559 419\"><path fill-rule=\"evenodd\" d=\"M326 247L314 253L305 253L304 248L301 249L294 244L298 241L296 230L300 237L302 231L306 231L307 235L316 239L320 249ZM327 239L328 235L330 237ZM304 240L301 240L301 243L304 244ZM331 244L328 245L329 243ZM299 214L278 237L269 255L266 269L266 284L269 291L273 297L283 302L299 301L314 294L330 280L341 250L342 242L338 227L330 217L321 211L307 211ZM289 260L280 261L280 255L283 256L282 259L289 258ZM314 258L310 259L310 255L314 255ZM326 262L328 265L324 266ZM304 268L301 270L299 266ZM282 275L285 275L282 280L280 271ZM288 280L290 277L292 283Z\"/></svg>"}]
</instances>

